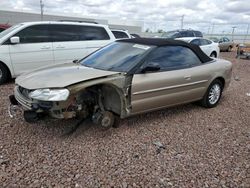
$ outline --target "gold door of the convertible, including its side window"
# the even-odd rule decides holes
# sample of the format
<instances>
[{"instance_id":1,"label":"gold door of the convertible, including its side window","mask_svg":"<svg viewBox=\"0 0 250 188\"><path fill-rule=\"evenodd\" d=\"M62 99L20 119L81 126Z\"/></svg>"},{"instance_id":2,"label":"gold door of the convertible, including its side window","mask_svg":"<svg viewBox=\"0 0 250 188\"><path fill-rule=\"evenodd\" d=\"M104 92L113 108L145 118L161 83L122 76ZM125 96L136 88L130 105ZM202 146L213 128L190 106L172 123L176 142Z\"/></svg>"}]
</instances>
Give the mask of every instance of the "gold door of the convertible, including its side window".
<instances>
[{"instance_id":1,"label":"gold door of the convertible, including its side window","mask_svg":"<svg viewBox=\"0 0 250 188\"><path fill-rule=\"evenodd\" d=\"M155 72L138 72L132 80L132 114L199 100L203 97L209 70L192 50L181 46L158 47L144 62L159 65Z\"/></svg>"}]
</instances>

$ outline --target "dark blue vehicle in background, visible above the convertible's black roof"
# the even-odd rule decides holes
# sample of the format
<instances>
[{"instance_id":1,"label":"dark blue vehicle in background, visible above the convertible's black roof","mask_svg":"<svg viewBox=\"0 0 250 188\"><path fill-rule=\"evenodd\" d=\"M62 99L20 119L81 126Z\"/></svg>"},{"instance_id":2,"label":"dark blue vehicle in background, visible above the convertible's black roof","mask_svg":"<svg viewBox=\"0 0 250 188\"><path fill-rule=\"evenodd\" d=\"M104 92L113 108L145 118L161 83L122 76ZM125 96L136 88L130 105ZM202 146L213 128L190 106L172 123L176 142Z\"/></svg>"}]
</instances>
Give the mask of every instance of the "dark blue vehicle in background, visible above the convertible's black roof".
<instances>
[{"instance_id":1,"label":"dark blue vehicle in background, visible above the convertible's black roof","mask_svg":"<svg viewBox=\"0 0 250 188\"><path fill-rule=\"evenodd\" d=\"M162 34L161 38L203 37L202 32L196 30L174 30Z\"/></svg>"}]
</instances>

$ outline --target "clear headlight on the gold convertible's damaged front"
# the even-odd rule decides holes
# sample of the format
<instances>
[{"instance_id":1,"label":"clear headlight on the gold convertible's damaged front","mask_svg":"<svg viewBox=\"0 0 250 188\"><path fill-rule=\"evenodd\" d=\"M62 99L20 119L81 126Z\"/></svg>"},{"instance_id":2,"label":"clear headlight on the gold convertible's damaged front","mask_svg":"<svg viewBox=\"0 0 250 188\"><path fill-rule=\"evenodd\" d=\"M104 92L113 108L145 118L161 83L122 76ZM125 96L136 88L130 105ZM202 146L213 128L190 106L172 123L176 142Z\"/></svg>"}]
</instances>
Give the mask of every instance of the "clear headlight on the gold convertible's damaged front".
<instances>
[{"instance_id":1,"label":"clear headlight on the gold convertible's damaged front","mask_svg":"<svg viewBox=\"0 0 250 188\"><path fill-rule=\"evenodd\" d=\"M66 101L68 96L67 89L37 89L29 94L29 97L41 101Z\"/></svg>"}]
</instances>

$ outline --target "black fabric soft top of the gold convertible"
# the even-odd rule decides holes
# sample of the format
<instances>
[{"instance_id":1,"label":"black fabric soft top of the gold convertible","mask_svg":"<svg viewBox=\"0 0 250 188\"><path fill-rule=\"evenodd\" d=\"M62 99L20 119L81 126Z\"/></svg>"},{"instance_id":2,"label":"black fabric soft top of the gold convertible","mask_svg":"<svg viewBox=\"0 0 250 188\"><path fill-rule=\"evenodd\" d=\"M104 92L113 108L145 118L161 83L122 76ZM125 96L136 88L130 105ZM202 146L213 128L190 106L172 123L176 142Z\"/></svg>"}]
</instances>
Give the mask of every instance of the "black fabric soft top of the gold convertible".
<instances>
[{"instance_id":1,"label":"black fabric soft top of the gold convertible","mask_svg":"<svg viewBox=\"0 0 250 188\"><path fill-rule=\"evenodd\" d=\"M212 61L210 57L208 57L199 46L190 44L180 40L174 39L161 39L161 38L132 38L132 39L122 39L118 40L118 42L130 42L136 44L143 45L153 45L153 46L184 46L190 48L202 61L202 63L206 63Z\"/></svg>"}]
</instances>

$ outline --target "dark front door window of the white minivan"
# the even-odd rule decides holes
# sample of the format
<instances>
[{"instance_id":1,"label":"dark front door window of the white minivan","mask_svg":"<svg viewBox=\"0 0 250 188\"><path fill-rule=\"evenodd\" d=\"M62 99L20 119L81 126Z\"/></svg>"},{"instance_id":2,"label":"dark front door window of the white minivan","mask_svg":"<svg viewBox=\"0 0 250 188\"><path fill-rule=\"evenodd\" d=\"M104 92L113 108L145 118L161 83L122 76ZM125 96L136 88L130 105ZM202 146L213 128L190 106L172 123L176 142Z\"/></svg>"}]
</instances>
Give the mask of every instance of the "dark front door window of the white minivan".
<instances>
[{"instance_id":1,"label":"dark front door window of the white minivan","mask_svg":"<svg viewBox=\"0 0 250 188\"><path fill-rule=\"evenodd\" d=\"M20 37L20 43L51 42L48 25L34 25L19 31L14 36Z\"/></svg>"}]
</instances>

